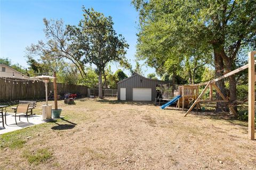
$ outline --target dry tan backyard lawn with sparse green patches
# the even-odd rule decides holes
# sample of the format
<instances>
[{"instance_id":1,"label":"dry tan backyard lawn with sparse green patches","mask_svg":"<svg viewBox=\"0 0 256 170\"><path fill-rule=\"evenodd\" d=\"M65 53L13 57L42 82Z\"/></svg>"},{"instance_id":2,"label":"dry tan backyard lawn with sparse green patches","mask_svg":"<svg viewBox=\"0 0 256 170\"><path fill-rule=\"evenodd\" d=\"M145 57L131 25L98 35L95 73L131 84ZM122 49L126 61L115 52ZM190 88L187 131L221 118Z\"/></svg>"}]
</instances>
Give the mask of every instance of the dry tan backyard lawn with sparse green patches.
<instances>
[{"instance_id":1,"label":"dry tan backyard lawn with sparse green patches","mask_svg":"<svg viewBox=\"0 0 256 170\"><path fill-rule=\"evenodd\" d=\"M256 169L247 123L227 115L89 98L59 108L61 120L0 135L1 170Z\"/></svg>"}]
</instances>

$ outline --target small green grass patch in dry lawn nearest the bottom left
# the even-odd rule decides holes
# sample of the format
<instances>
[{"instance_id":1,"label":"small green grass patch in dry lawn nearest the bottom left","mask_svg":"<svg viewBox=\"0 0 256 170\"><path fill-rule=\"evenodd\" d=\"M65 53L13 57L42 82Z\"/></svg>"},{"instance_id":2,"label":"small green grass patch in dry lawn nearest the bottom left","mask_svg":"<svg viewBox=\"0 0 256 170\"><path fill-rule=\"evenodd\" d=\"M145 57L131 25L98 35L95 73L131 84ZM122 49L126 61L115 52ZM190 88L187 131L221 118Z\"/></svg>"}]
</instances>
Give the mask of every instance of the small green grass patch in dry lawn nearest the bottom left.
<instances>
[{"instance_id":1,"label":"small green grass patch in dry lawn nearest the bottom left","mask_svg":"<svg viewBox=\"0 0 256 170\"><path fill-rule=\"evenodd\" d=\"M35 152L30 152L28 150L23 151L23 157L27 158L30 164L38 165L39 163L46 162L52 158L52 152L48 149L38 149Z\"/></svg>"}]
</instances>

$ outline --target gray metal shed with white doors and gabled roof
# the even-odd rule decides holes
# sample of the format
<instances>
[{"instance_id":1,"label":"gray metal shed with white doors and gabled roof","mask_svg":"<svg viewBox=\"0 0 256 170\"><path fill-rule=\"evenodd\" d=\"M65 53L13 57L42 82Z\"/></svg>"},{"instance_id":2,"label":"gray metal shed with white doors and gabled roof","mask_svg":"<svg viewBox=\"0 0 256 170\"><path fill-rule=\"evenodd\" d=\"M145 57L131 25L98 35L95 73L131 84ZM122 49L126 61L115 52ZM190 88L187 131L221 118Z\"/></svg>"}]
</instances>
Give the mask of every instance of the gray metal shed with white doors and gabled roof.
<instances>
[{"instance_id":1,"label":"gray metal shed with white doors and gabled roof","mask_svg":"<svg viewBox=\"0 0 256 170\"><path fill-rule=\"evenodd\" d=\"M167 81L145 78L140 74L117 83L118 100L154 101L158 84L167 84Z\"/></svg>"}]
</instances>

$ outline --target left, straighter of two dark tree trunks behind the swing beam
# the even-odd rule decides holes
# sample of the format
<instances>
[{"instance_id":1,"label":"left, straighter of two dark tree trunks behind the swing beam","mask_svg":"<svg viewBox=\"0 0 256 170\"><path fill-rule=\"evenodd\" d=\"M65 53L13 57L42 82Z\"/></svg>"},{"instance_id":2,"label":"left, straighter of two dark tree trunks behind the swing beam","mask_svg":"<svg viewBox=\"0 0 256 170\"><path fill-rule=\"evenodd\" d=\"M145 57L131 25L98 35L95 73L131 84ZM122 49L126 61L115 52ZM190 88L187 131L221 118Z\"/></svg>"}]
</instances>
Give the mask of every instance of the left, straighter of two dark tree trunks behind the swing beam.
<instances>
[{"instance_id":1,"label":"left, straighter of two dark tree trunks behind the swing beam","mask_svg":"<svg viewBox=\"0 0 256 170\"><path fill-rule=\"evenodd\" d=\"M218 49L217 46L213 46L213 52L214 52L214 66L215 66L215 78L221 77L223 74L223 59L221 57L221 52ZM215 82L217 87L220 89L222 94L226 97L226 90L225 90L225 84L223 80ZM216 94L217 100L222 100L221 96L217 93ZM227 107L226 103L216 103L216 111L215 112L221 112L223 107Z\"/></svg>"}]
</instances>

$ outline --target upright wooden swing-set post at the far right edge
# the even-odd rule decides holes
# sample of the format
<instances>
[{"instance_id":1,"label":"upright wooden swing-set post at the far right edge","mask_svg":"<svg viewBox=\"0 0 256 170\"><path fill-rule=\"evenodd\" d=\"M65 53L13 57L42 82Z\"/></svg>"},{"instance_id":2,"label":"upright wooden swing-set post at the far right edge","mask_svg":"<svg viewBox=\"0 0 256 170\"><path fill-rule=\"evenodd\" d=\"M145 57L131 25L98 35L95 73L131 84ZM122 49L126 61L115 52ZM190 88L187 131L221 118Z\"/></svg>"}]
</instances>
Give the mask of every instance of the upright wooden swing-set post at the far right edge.
<instances>
[{"instance_id":1,"label":"upright wooden swing-set post at the far right edge","mask_svg":"<svg viewBox=\"0 0 256 170\"><path fill-rule=\"evenodd\" d=\"M249 91L248 91L248 137L254 140L254 116L255 116L255 64L254 64L255 52L249 52Z\"/></svg>"}]
</instances>

